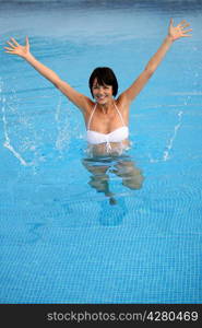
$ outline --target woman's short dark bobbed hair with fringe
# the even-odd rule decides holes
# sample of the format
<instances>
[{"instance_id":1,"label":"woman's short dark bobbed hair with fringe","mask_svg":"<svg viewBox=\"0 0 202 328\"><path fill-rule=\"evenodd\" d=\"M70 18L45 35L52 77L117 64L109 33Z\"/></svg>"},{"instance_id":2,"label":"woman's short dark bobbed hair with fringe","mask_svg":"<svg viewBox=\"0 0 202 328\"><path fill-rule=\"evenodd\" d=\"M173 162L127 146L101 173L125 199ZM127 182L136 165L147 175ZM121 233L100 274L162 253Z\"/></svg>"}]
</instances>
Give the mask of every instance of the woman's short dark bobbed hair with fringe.
<instances>
[{"instance_id":1,"label":"woman's short dark bobbed hair with fringe","mask_svg":"<svg viewBox=\"0 0 202 328\"><path fill-rule=\"evenodd\" d=\"M94 69L90 77L90 90L93 96L93 82L97 79L99 85L111 85L112 95L116 96L118 93L118 82L114 71L109 67L97 67ZM93 96L94 97L94 96Z\"/></svg>"}]
</instances>

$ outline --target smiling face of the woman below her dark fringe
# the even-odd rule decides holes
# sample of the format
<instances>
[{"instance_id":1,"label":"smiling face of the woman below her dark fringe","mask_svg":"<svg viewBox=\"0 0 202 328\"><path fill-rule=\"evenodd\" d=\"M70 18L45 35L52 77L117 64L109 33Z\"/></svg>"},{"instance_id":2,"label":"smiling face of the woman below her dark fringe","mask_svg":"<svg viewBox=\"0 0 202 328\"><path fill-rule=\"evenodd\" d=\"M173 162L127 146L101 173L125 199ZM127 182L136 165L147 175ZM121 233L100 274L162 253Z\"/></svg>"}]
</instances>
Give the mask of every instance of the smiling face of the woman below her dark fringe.
<instances>
[{"instance_id":1,"label":"smiling face of the woman below her dark fringe","mask_svg":"<svg viewBox=\"0 0 202 328\"><path fill-rule=\"evenodd\" d=\"M93 82L92 92L95 101L100 105L108 103L112 98L112 85L100 85L97 79Z\"/></svg>"}]
</instances>

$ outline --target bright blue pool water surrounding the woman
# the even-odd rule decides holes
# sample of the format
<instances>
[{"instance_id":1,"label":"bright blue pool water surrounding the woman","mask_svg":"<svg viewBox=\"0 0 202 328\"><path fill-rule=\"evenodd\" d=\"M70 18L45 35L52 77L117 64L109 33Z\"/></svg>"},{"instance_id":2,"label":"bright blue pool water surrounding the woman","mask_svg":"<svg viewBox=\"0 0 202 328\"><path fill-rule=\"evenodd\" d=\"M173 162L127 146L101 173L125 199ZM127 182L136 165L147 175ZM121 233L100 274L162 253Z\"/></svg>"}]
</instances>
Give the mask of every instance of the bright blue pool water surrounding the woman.
<instances>
[{"instance_id":1,"label":"bright blue pool water surrounding the woman","mask_svg":"<svg viewBox=\"0 0 202 328\"><path fill-rule=\"evenodd\" d=\"M131 106L139 189L109 163L116 203L91 184L80 112L21 58L0 51L1 303L201 303L202 2L0 1L0 45L23 42L91 96L97 66L120 92L174 44ZM105 163L106 164L106 163Z\"/></svg>"}]
</instances>

